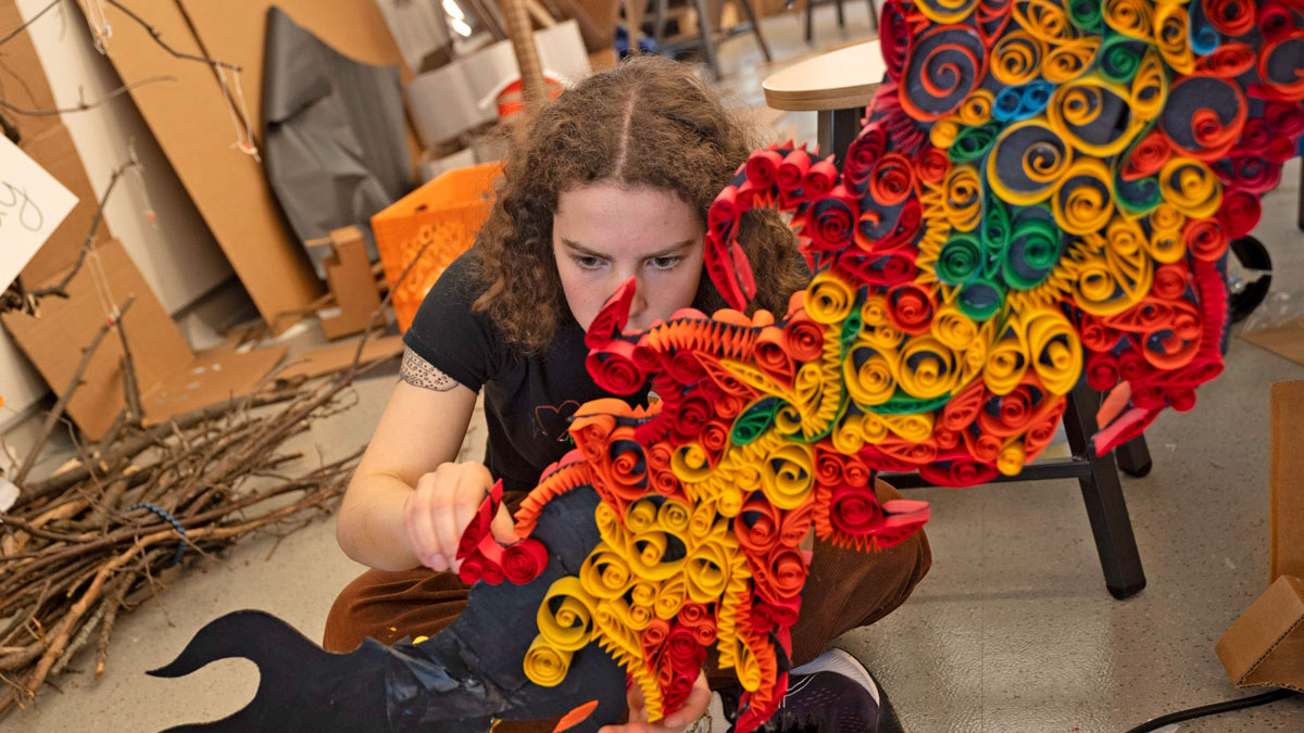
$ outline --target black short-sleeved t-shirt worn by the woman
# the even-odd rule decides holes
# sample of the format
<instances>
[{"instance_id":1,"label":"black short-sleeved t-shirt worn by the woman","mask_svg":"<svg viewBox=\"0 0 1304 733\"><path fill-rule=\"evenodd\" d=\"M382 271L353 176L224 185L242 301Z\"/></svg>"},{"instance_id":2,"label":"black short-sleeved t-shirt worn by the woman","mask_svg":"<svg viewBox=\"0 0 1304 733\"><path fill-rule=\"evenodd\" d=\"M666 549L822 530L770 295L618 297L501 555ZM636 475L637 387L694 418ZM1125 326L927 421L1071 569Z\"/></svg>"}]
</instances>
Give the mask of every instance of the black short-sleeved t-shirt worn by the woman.
<instances>
[{"instance_id":1,"label":"black short-sleeved t-shirt worn by the woman","mask_svg":"<svg viewBox=\"0 0 1304 733\"><path fill-rule=\"evenodd\" d=\"M584 369L584 331L566 310L541 353L526 355L509 343L489 317L472 313L482 290L468 274L467 252L439 275L412 326L403 335L417 356L472 391L485 390L489 440L485 466L505 490L526 492L574 443L566 432L580 404L613 395ZM647 402L647 389L622 396Z\"/></svg>"}]
</instances>

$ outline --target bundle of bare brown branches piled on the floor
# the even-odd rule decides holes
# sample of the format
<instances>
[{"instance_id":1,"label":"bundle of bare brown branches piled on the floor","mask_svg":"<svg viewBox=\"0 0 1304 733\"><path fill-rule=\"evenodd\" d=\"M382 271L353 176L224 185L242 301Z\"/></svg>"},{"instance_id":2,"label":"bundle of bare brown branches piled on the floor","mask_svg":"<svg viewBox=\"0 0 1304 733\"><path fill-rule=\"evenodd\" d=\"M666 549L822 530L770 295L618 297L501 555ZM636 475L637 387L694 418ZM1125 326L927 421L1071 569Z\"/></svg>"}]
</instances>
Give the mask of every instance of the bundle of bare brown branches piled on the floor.
<instances>
[{"instance_id":1,"label":"bundle of bare brown branches piled on the floor","mask_svg":"<svg viewBox=\"0 0 1304 733\"><path fill-rule=\"evenodd\" d=\"M17 501L0 513L0 716L53 683L87 644L95 644L99 677L117 616L183 573L190 565L183 554L190 560L257 530L286 533L331 511L361 450L329 462L312 456L314 467L287 476L300 455L284 443L347 410L347 387L364 370L355 359L334 378L270 382L147 428L129 399L98 445L77 446L63 471L26 481L65 393L16 475Z\"/></svg>"}]
</instances>

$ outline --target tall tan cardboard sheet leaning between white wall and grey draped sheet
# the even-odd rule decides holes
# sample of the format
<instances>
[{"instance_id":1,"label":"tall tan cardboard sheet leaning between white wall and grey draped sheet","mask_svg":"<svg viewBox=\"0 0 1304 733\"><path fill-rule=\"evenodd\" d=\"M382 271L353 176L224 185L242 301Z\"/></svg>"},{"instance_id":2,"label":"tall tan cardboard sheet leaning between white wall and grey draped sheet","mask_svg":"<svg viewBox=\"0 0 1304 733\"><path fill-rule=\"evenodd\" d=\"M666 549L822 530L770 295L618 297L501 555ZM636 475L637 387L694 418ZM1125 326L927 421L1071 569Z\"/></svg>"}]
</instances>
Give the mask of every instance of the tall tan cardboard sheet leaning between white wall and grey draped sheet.
<instances>
[{"instance_id":1,"label":"tall tan cardboard sheet leaning between white wall and grey draped sheet","mask_svg":"<svg viewBox=\"0 0 1304 733\"><path fill-rule=\"evenodd\" d=\"M262 43L257 31L262 3L215 5L223 9L226 22ZM133 0L130 8L176 51L203 53L175 0ZM322 292L322 284L303 247L283 226L262 164L233 147L236 130L218 77L207 64L168 53L120 9L104 5L103 10L113 27L108 57L124 81L175 78L136 86L132 99L258 313L275 331L284 330ZM261 76L261 68L244 69L240 82L246 103L248 85Z\"/></svg>"}]
</instances>

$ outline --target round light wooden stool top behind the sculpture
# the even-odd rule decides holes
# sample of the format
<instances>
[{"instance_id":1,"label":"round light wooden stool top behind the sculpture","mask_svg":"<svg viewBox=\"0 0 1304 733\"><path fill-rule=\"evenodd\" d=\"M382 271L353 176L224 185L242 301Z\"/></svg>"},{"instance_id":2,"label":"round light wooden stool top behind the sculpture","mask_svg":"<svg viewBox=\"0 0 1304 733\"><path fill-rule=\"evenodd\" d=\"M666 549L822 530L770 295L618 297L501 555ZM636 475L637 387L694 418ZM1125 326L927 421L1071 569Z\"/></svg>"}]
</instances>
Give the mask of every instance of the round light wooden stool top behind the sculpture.
<instances>
[{"instance_id":1,"label":"round light wooden stool top behind the sculpture","mask_svg":"<svg viewBox=\"0 0 1304 733\"><path fill-rule=\"evenodd\" d=\"M845 110L872 102L885 72L879 42L868 40L780 69L760 86L775 110Z\"/></svg>"}]
</instances>

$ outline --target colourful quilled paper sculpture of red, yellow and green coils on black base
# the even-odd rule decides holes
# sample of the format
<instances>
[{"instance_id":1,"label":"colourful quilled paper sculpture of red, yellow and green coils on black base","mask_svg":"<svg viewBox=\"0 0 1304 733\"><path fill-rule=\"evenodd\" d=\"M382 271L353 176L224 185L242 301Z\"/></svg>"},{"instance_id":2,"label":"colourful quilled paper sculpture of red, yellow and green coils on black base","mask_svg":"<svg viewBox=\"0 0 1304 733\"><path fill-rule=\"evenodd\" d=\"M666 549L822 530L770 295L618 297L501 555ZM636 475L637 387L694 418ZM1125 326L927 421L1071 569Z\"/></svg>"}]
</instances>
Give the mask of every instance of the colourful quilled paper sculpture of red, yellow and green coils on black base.
<instances>
[{"instance_id":1,"label":"colourful quilled paper sculpture of red, yellow and green coils on black base","mask_svg":"<svg viewBox=\"0 0 1304 733\"><path fill-rule=\"evenodd\" d=\"M1015 475L1082 380L1125 403L1104 453L1222 370L1230 239L1260 217L1304 132L1301 0L889 0L887 78L838 168L792 145L751 155L707 222L734 308L625 333L632 290L591 325L608 391L575 450L488 533L443 633L329 655L240 612L155 674L254 660L258 694L216 729L472 732L562 713L593 730L638 685L655 719L715 644L746 690L735 729L781 702L811 531L871 552L927 520L876 471L941 485ZM811 265L781 318L735 241L751 209L790 217ZM587 703L587 704L585 704Z\"/></svg>"}]
</instances>

